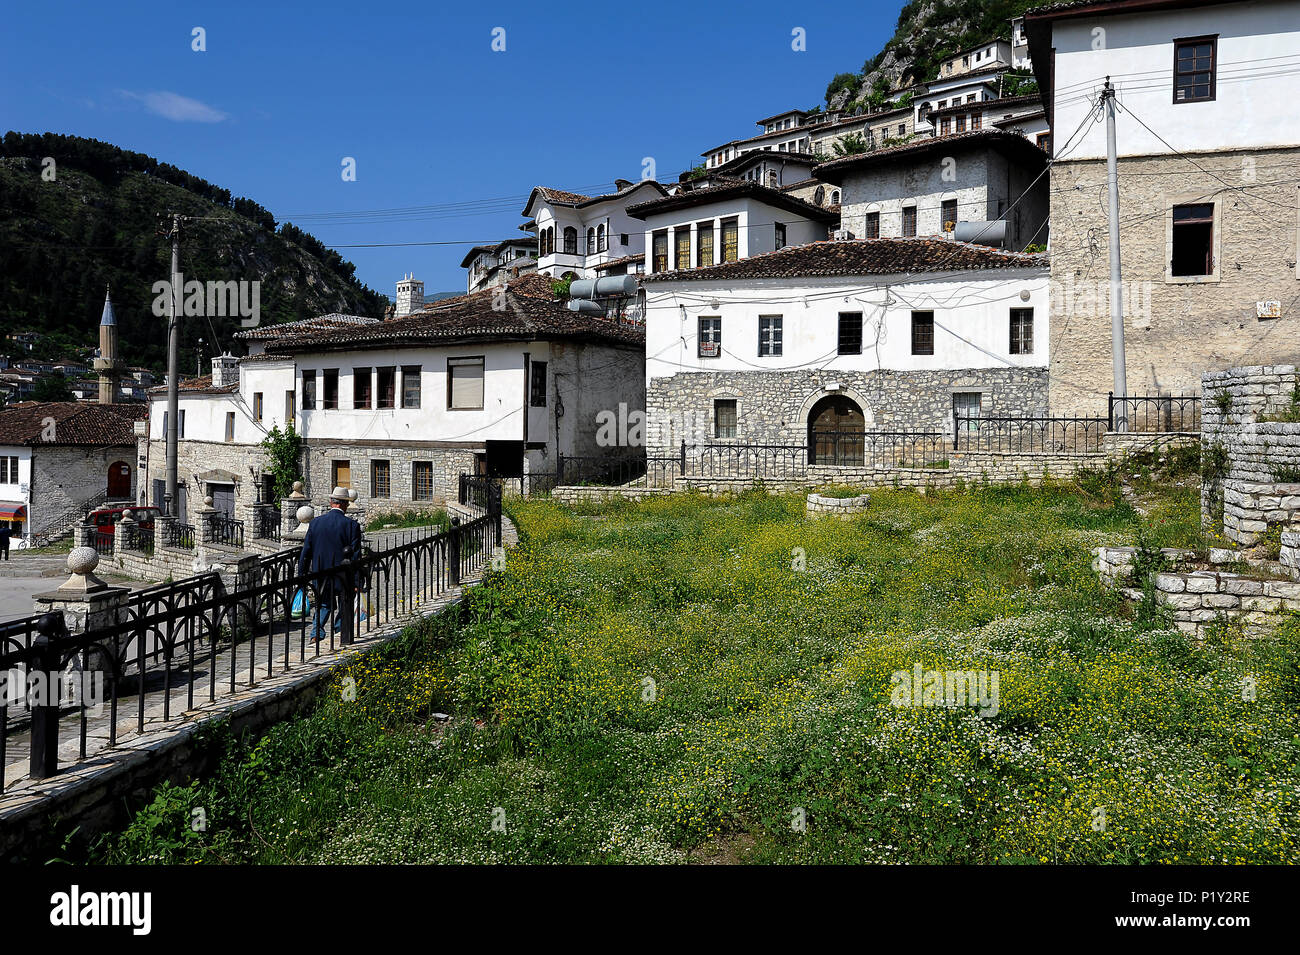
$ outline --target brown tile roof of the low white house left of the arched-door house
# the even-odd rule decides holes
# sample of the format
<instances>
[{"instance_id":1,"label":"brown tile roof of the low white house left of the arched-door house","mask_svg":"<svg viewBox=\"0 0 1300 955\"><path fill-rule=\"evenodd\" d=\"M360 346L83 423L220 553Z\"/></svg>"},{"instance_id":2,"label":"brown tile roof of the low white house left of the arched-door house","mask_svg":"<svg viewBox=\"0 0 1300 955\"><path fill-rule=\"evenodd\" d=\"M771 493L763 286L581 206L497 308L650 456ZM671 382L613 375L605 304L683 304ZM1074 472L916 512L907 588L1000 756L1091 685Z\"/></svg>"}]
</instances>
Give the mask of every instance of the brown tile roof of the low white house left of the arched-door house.
<instances>
[{"instance_id":1,"label":"brown tile roof of the low white house left of the arched-door house","mask_svg":"<svg viewBox=\"0 0 1300 955\"><path fill-rule=\"evenodd\" d=\"M538 294L543 282L549 298ZM595 340L624 347L645 344L642 326L571 312L555 300L550 282L549 275L521 275L504 286L442 299L402 318L313 335L309 342L270 342L266 348L274 352L315 352L555 339ZM506 307L494 308L502 298Z\"/></svg>"}]
</instances>

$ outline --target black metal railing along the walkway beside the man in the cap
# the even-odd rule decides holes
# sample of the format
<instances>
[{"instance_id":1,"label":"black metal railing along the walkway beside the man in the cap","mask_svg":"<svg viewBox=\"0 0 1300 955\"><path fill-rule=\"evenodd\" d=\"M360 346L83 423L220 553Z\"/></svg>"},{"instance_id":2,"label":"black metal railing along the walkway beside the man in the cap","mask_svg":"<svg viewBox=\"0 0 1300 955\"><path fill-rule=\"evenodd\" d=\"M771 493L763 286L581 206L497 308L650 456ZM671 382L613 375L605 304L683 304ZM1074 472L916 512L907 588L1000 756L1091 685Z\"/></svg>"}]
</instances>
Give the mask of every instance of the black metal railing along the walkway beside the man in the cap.
<instances>
[{"instance_id":1,"label":"black metal railing along the walkway beside the man in the cap","mask_svg":"<svg viewBox=\"0 0 1300 955\"><path fill-rule=\"evenodd\" d=\"M92 700L57 693L32 702L27 686L62 687L61 674L68 672L103 674L99 703L107 719L96 724L96 734L107 733L113 746L124 733L131 734L124 729L131 722L134 735L144 732L148 699L157 700L159 693L165 721L182 702L190 709L196 698L214 702L240 693L290 670L295 656L304 663L333 652L352 643L358 630L398 621L459 586L486 565L502 539L500 486L467 478L462 503L484 502L482 516L368 550L339 568L299 574L295 547L261 559L256 574L234 587L217 573L205 573L136 591L116 622L86 633L69 634L61 613L0 625L0 677L8 677L0 695L0 765L8 764L9 741L26 729L30 776L53 774L61 712L65 725L77 726L79 758L87 758ZM317 629L320 642L313 639ZM23 676L23 687L10 685L14 673Z\"/></svg>"}]
</instances>

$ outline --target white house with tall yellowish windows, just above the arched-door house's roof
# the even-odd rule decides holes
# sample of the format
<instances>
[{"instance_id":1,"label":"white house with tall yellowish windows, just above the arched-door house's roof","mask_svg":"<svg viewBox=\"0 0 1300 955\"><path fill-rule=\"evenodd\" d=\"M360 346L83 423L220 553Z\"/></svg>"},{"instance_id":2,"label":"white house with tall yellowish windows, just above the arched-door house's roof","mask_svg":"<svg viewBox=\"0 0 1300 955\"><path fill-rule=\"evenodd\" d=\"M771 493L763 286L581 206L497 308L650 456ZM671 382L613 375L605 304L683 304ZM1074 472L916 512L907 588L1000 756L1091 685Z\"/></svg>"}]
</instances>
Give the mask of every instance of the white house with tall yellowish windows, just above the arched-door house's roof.
<instances>
[{"instance_id":1,"label":"white house with tall yellowish windows, just above the arched-door house's roof","mask_svg":"<svg viewBox=\"0 0 1300 955\"><path fill-rule=\"evenodd\" d=\"M819 242L838 222L831 209L744 179L629 205L628 214L644 222L647 274Z\"/></svg>"}]
</instances>

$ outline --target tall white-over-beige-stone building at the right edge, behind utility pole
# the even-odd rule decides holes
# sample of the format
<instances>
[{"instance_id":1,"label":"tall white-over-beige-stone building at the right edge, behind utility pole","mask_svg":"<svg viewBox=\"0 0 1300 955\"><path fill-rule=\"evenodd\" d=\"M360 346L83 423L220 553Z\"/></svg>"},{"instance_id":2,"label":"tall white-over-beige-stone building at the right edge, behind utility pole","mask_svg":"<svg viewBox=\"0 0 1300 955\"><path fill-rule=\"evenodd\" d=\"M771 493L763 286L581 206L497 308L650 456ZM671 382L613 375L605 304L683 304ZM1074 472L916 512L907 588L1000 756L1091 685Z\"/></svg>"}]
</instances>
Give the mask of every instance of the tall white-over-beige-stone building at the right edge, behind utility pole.
<instances>
[{"instance_id":1,"label":"tall white-over-beige-stone building at the right edge, behind utility pole","mask_svg":"<svg viewBox=\"0 0 1300 955\"><path fill-rule=\"evenodd\" d=\"M1192 394L1206 370L1300 360L1300 4L1074 3L1024 25L1054 136L1053 279L1096 303L1061 303L1053 408L1096 413L1114 387L1106 123L1092 112L1108 77L1124 390Z\"/></svg>"}]
</instances>

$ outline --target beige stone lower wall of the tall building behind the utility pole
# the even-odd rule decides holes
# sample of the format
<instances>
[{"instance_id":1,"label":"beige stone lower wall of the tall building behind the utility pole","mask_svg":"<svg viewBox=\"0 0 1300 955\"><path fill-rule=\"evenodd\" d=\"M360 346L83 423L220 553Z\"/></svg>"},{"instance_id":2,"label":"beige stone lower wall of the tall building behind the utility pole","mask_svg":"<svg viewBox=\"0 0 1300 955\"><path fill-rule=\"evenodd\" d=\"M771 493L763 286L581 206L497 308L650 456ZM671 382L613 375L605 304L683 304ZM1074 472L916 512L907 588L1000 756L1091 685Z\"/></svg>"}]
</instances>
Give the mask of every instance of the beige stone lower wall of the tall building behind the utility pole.
<instances>
[{"instance_id":1,"label":"beige stone lower wall of the tall building behind the utility pole","mask_svg":"<svg viewBox=\"0 0 1300 955\"><path fill-rule=\"evenodd\" d=\"M1119 159L1131 395L1192 394L1205 369L1231 368L1254 356L1300 360L1300 311L1295 307L1300 149L1201 153L1196 162L1208 172L1178 156ZM1257 179L1249 179L1256 168ZM1236 185L1249 188L1254 209L1270 212L1252 214L1240 208ZM1105 195L1104 161L1053 164L1053 414L1098 413L1113 388ZM1219 243L1217 279L1166 279L1169 208L1210 200ZM1282 301L1282 317L1258 318L1256 303L1264 300Z\"/></svg>"}]
</instances>

